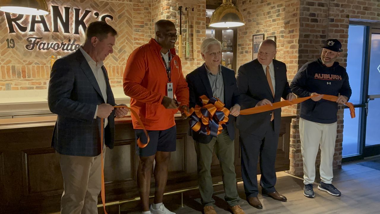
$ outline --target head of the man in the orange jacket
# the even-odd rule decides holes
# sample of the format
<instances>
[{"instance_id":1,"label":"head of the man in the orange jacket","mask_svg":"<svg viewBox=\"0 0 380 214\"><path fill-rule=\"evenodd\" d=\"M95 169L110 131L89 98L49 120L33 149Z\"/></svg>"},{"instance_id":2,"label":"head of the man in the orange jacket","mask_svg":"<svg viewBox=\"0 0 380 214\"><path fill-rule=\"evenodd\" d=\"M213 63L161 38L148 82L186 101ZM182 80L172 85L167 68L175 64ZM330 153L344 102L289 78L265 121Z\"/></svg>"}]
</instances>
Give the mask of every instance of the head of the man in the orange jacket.
<instances>
[{"instance_id":1,"label":"head of the man in the orange jacket","mask_svg":"<svg viewBox=\"0 0 380 214\"><path fill-rule=\"evenodd\" d=\"M161 19L154 24L155 40L161 45L163 51L174 48L177 40L177 29L174 23Z\"/></svg>"}]
</instances>

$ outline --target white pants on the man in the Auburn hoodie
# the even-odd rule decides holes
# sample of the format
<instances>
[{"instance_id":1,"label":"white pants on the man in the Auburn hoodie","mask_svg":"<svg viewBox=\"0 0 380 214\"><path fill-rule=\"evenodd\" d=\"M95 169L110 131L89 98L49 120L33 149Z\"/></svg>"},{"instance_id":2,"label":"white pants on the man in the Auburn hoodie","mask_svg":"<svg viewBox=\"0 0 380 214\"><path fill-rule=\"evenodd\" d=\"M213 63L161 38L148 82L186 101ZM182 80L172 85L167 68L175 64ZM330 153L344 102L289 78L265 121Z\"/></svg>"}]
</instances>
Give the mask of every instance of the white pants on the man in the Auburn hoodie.
<instances>
[{"instance_id":1,"label":"white pants on the man in the Auburn hoodie","mask_svg":"<svg viewBox=\"0 0 380 214\"><path fill-rule=\"evenodd\" d=\"M305 185L313 184L315 180L315 159L317 158L318 147L321 149L321 164L319 167L321 180L326 184L331 184L336 129L337 122L323 124L299 118L299 136L301 138Z\"/></svg>"}]
</instances>

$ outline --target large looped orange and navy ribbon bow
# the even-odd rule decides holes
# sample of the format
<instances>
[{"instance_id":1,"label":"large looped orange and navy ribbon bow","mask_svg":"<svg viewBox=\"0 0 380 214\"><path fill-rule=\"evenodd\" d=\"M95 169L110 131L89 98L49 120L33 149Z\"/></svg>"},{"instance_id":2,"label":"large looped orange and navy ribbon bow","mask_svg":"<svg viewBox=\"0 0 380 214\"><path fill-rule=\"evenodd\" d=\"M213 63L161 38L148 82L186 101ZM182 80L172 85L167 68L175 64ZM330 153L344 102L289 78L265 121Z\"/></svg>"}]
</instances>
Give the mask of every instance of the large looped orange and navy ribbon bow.
<instances>
[{"instance_id":1,"label":"large looped orange and navy ribbon bow","mask_svg":"<svg viewBox=\"0 0 380 214\"><path fill-rule=\"evenodd\" d=\"M202 134L216 137L222 133L224 126L228 122L230 110L224 107L224 104L219 99L207 96L199 97L202 101L202 106L196 105L188 112L185 112L187 117L190 117L190 127L194 131L199 131Z\"/></svg>"}]
</instances>

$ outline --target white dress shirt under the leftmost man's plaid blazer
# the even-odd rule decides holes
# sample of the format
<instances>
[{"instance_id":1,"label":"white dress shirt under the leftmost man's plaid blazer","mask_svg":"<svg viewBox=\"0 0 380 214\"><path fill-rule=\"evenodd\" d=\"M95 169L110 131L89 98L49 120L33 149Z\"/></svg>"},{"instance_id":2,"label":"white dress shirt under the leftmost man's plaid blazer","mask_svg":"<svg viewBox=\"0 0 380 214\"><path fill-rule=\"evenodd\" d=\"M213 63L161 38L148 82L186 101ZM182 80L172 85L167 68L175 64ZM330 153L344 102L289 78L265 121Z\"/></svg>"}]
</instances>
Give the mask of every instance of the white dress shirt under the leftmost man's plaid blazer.
<instances>
[{"instance_id":1,"label":"white dress shirt under the leftmost man's plaid blazer","mask_svg":"<svg viewBox=\"0 0 380 214\"><path fill-rule=\"evenodd\" d=\"M89 66L90 66L90 68L92 70L92 73L94 74L95 79L98 82L101 95L103 96L103 99L104 99L105 103L107 103L107 85L106 85L106 79L104 77L103 70L101 69L101 67L103 66L103 61L101 61L101 62L95 62L90 57L90 55L88 53L86 53L86 51L83 50L82 47L79 47L79 50L81 50L84 58L86 59L87 63L89 64ZM94 119L96 119L97 113L98 113L98 105L96 106L96 111L95 111ZM108 119L105 118L104 127L106 127L107 125L108 125Z\"/></svg>"}]
</instances>

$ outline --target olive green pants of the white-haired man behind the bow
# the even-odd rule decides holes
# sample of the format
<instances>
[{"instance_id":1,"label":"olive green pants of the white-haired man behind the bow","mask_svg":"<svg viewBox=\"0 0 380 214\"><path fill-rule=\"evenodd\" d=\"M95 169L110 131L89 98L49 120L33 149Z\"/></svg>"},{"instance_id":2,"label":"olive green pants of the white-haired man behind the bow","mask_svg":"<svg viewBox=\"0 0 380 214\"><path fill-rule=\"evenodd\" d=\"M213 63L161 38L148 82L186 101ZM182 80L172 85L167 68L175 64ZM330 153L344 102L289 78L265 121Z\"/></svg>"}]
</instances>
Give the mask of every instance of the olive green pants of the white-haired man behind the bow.
<instances>
[{"instance_id":1,"label":"olive green pants of the white-haired man behind the bow","mask_svg":"<svg viewBox=\"0 0 380 214\"><path fill-rule=\"evenodd\" d=\"M228 205L239 204L239 195L236 189L236 173L234 166L234 141L230 139L227 129L217 137L213 137L208 144L194 142L198 165L198 185L202 197L203 206L214 206L215 200L212 198L214 187L212 186L211 162L212 154L219 159L222 168L223 187L226 193L224 199Z\"/></svg>"}]
</instances>

